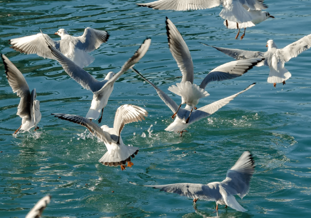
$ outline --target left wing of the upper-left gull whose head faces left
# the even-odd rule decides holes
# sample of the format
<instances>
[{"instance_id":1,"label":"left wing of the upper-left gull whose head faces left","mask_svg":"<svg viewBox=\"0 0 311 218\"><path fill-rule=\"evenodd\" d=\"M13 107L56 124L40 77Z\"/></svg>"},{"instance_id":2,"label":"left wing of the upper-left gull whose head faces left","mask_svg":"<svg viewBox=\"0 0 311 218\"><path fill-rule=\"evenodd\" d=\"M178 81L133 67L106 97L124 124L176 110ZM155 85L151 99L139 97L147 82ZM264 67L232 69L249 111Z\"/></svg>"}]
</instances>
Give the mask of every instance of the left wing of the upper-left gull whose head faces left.
<instances>
[{"instance_id":1,"label":"left wing of the upper-left gull whose head faces left","mask_svg":"<svg viewBox=\"0 0 311 218\"><path fill-rule=\"evenodd\" d=\"M59 41L54 41L47 34L42 35L41 33L10 39L10 44L12 45L10 48L13 48L18 52L23 52L26 54L37 54L40 57L55 60L45 40L48 41L53 48L59 50Z\"/></svg>"}]
</instances>

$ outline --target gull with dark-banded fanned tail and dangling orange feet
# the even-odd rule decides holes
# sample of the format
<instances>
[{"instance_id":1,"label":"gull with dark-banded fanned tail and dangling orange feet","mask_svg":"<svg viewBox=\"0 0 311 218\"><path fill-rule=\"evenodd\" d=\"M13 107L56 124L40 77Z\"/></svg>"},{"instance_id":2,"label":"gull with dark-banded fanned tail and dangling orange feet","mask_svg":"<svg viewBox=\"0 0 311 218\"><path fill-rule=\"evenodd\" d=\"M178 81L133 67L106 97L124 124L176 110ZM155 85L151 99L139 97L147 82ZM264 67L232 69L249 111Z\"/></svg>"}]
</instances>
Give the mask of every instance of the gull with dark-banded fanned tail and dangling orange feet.
<instances>
[{"instance_id":1,"label":"gull with dark-banded fanned tail and dangling orange feet","mask_svg":"<svg viewBox=\"0 0 311 218\"><path fill-rule=\"evenodd\" d=\"M78 115L72 114L52 114L62 120L68 120L73 123L85 126L90 132L100 139L107 147L107 152L100 158L99 162L105 166L121 166L125 169L125 164L128 162L129 167L133 165L131 157L137 155L139 148L126 146L121 138L121 131L125 124L145 120L144 116L148 112L138 106L125 104L118 107L114 116L114 127L109 128L107 125L101 127L91 120Z\"/></svg>"}]
</instances>

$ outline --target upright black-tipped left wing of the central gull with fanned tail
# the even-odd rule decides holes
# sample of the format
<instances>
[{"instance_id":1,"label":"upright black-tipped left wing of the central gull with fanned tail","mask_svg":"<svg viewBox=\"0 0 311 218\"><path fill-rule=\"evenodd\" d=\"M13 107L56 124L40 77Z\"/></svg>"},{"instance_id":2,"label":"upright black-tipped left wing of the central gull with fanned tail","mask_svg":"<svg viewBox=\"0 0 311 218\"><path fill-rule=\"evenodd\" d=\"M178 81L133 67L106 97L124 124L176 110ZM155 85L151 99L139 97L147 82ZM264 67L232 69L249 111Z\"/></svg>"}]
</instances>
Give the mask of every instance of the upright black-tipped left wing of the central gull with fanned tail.
<instances>
[{"instance_id":1,"label":"upright black-tipped left wing of the central gull with fanned tail","mask_svg":"<svg viewBox=\"0 0 311 218\"><path fill-rule=\"evenodd\" d=\"M177 65L183 75L182 82L193 83L193 62L189 48L176 26L166 17L166 33L171 51Z\"/></svg>"}]
</instances>

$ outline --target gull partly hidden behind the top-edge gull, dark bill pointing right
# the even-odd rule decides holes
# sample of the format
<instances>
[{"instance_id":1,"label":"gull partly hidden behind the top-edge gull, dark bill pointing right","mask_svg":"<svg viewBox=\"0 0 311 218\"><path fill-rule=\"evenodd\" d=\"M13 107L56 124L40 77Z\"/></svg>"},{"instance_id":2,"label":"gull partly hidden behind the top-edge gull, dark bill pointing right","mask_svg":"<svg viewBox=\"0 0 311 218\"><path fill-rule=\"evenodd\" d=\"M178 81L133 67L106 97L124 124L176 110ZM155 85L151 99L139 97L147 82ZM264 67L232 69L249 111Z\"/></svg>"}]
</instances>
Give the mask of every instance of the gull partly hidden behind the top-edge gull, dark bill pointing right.
<instances>
[{"instance_id":1,"label":"gull partly hidden behind the top-edge gull, dark bill pointing right","mask_svg":"<svg viewBox=\"0 0 311 218\"><path fill-rule=\"evenodd\" d=\"M269 17L274 18L274 16L270 15L269 12L266 12L266 11L251 10L250 8L248 8L247 11L252 16L252 20L251 21L244 22L244 23L235 23L235 22L228 21L228 20L224 21L224 25L228 29L237 29L237 28L239 29L238 34L236 35L235 39L238 39L241 28L244 28L244 33L241 36L241 40L242 40L244 38L244 36L245 36L245 30L246 30L247 27L255 26L255 24L259 24L262 21L267 20Z\"/></svg>"}]
</instances>

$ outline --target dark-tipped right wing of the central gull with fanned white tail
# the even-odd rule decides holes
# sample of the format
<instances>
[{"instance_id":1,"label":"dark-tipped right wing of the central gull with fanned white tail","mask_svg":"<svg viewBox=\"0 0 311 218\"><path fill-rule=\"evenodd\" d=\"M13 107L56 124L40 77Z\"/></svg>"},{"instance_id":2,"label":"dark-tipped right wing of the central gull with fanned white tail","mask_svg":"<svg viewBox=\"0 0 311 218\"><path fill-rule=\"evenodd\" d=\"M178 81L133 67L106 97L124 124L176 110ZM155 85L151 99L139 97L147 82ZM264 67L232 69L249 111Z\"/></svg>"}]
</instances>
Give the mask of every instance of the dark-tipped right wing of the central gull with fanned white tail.
<instances>
[{"instance_id":1,"label":"dark-tipped right wing of the central gull with fanned white tail","mask_svg":"<svg viewBox=\"0 0 311 218\"><path fill-rule=\"evenodd\" d=\"M252 69L253 66L257 65L262 60L264 60L264 58L257 57L231 61L229 63L220 65L207 74L207 76L200 84L200 88L205 89L206 85L212 81L222 81L239 77L246 73L248 70Z\"/></svg>"}]
</instances>

